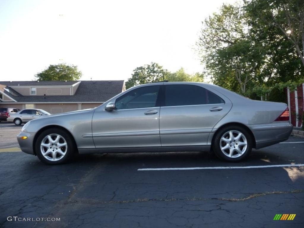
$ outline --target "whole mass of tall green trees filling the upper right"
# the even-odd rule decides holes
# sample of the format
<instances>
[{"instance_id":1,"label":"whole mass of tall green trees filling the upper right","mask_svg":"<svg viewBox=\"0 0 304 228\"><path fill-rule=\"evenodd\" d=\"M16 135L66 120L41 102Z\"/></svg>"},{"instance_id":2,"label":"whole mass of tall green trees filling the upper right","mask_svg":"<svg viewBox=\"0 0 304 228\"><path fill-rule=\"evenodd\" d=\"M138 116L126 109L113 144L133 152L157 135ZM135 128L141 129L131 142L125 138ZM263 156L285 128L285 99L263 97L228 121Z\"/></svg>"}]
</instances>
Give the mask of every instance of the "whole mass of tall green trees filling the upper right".
<instances>
[{"instance_id":1,"label":"whole mass of tall green trees filling the upper right","mask_svg":"<svg viewBox=\"0 0 304 228\"><path fill-rule=\"evenodd\" d=\"M212 82L254 97L298 83L304 73L303 5L244 0L223 4L206 18L197 50Z\"/></svg>"}]
</instances>

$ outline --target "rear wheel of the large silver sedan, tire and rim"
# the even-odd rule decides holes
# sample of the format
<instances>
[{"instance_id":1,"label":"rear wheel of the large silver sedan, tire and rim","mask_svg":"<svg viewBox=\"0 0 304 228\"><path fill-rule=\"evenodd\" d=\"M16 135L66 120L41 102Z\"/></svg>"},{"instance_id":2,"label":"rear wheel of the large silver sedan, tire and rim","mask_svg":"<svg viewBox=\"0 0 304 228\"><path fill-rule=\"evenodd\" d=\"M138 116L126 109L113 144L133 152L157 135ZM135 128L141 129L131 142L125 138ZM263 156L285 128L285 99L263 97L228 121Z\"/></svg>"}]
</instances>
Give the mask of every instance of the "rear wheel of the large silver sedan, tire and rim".
<instances>
[{"instance_id":1,"label":"rear wheel of the large silver sedan, tire and rim","mask_svg":"<svg viewBox=\"0 0 304 228\"><path fill-rule=\"evenodd\" d=\"M250 133L243 127L227 126L214 136L212 149L220 159L238 162L249 156L252 140Z\"/></svg>"}]
</instances>

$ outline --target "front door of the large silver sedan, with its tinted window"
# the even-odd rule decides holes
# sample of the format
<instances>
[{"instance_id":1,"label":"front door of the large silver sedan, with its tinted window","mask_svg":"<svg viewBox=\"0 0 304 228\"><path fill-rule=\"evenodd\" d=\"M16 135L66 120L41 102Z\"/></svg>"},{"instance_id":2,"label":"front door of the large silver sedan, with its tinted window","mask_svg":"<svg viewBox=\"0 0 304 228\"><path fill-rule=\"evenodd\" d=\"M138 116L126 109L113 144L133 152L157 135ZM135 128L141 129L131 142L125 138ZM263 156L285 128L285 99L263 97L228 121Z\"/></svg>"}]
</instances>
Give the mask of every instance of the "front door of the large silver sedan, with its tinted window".
<instances>
[{"instance_id":1,"label":"front door of the large silver sedan, with its tinted window","mask_svg":"<svg viewBox=\"0 0 304 228\"><path fill-rule=\"evenodd\" d=\"M116 98L115 109L101 106L92 119L96 148L160 147L160 85L135 88Z\"/></svg>"}]
</instances>

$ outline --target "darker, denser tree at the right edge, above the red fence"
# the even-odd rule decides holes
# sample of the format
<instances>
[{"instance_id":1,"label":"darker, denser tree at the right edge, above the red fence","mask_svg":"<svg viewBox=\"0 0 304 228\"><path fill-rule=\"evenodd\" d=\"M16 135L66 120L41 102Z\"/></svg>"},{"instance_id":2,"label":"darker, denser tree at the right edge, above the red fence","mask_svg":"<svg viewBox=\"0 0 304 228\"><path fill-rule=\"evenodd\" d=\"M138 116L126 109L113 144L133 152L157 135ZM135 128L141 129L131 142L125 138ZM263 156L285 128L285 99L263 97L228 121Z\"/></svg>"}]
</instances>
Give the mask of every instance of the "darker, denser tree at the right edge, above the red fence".
<instances>
[{"instance_id":1,"label":"darker, denser tree at the right edge, above the red fence","mask_svg":"<svg viewBox=\"0 0 304 228\"><path fill-rule=\"evenodd\" d=\"M266 52L266 87L303 78L303 6L302 0L244 1L248 32Z\"/></svg>"}]
</instances>

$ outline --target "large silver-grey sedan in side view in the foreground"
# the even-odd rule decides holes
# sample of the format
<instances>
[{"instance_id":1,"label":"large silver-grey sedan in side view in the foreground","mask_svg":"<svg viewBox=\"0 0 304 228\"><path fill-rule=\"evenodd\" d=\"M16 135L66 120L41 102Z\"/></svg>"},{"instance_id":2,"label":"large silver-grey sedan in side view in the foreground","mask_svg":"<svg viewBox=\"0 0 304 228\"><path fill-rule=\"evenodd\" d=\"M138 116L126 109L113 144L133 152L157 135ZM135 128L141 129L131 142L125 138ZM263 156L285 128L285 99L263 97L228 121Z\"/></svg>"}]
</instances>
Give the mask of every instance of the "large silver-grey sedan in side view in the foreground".
<instances>
[{"instance_id":1,"label":"large silver-grey sedan in side view in the foreground","mask_svg":"<svg viewBox=\"0 0 304 228\"><path fill-rule=\"evenodd\" d=\"M135 86L94 109L26 123L20 148L47 164L75 153L209 151L226 161L288 139L285 103L250 100L216 85L158 82Z\"/></svg>"}]
</instances>

